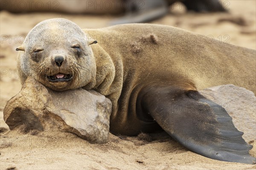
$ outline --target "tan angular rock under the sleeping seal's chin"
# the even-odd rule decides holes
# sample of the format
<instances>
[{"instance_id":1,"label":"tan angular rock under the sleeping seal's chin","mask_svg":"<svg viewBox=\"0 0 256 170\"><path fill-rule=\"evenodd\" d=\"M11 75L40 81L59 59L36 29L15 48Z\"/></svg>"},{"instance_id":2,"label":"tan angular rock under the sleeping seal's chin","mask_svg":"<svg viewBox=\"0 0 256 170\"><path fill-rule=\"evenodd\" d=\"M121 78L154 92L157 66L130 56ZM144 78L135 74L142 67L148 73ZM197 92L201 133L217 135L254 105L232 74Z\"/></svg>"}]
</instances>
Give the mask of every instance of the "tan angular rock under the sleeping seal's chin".
<instances>
[{"instance_id":1,"label":"tan angular rock under the sleeping seal's chin","mask_svg":"<svg viewBox=\"0 0 256 170\"><path fill-rule=\"evenodd\" d=\"M106 143L111 108L111 101L96 91L56 92L28 78L3 114L10 130L26 125L29 130L60 130L92 143Z\"/></svg>"}]
</instances>

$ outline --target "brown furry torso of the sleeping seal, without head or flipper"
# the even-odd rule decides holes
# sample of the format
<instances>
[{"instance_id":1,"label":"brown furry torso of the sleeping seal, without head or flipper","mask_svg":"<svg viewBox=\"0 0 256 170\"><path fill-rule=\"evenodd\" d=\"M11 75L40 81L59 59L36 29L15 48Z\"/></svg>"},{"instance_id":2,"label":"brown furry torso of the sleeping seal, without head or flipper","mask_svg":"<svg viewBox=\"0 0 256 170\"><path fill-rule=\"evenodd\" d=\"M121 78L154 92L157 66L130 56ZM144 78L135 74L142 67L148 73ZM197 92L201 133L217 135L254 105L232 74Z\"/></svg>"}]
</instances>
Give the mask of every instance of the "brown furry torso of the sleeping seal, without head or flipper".
<instances>
[{"instance_id":1,"label":"brown furry torso of the sleeping seal, without head or flipper","mask_svg":"<svg viewBox=\"0 0 256 170\"><path fill-rule=\"evenodd\" d=\"M224 44L180 28L152 24L126 24L84 29L84 32L98 41L91 46L97 53L96 63L102 60L98 54L101 51L113 62L110 66L116 74L113 83L106 89L100 88L99 93L113 102L114 133L136 135L154 130L153 122L141 120L136 110L138 94L151 83L186 90L233 84L255 94L255 50ZM101 67L104 65L99 70Z\"/></svg>"}]
</instances>

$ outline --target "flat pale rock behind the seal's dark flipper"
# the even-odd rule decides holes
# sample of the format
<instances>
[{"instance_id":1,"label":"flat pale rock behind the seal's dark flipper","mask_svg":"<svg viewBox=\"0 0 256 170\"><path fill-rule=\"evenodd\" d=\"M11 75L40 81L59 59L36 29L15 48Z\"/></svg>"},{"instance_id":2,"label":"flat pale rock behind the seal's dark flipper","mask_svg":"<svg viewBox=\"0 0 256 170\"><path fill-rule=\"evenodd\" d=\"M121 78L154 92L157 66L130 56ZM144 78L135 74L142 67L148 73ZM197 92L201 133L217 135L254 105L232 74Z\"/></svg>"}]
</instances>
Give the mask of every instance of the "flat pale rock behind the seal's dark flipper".
<instances>
[{"instance_id":1,"label":"flat pale rock behind the seal's dark flipper","mask_svg":"<svg viewBox=\"0 0 256 170\"><path fill-rule=\"evenodd\" d=\"M246 142L256 139L256 97L252 91L235 85L220 85L199 92L229 113L235 127L244 132Z\"/></svg>"}]
</instances>

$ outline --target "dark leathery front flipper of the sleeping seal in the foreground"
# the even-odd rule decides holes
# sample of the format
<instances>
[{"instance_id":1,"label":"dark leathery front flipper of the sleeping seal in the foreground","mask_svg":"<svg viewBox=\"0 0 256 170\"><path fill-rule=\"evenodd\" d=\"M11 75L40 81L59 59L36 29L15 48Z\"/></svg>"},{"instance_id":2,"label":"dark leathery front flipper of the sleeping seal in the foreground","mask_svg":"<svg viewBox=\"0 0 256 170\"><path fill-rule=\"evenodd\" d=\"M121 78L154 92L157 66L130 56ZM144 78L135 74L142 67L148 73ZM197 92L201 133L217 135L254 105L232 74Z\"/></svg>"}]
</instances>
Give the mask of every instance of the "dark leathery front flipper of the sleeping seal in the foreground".
<instances>
[{"instance_id":1,"label":"dark leathery front flipper of the sleeping seal in the foreground","mask_svg":"<svg viewBox=\"0 0 256 170\"><path fill-rule=\"evenodd\" d=\"M154 86L143 89L138 102L143 112L189 150L220 161L256 163L249 155L252 146L225 109L198 91Z\"/></svg>"}]
</instances>

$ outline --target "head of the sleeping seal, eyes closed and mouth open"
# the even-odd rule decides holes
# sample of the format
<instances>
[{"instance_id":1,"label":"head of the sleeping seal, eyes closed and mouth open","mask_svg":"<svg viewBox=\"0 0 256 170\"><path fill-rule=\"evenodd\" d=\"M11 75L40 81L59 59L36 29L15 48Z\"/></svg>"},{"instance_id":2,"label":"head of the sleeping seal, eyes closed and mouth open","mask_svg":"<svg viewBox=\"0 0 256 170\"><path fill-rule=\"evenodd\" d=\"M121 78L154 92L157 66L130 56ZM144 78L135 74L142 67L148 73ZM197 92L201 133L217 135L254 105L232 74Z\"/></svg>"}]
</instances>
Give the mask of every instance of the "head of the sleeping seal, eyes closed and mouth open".
<instances>
[{"instance_id":1,"label":"head of the sleeping seal, eyes closed and mouth open","mask_svg":"<svg viewBox=\"0 0 256 170\"><path fill-rule=\"evenodd\" d=\"M20 67L55 91L87 85L96 75L96 62L86 34L65 19L45 20L36 25L17 51ZM83 77L81 79L81 77Z\"/></svg>"}]
</instances>

